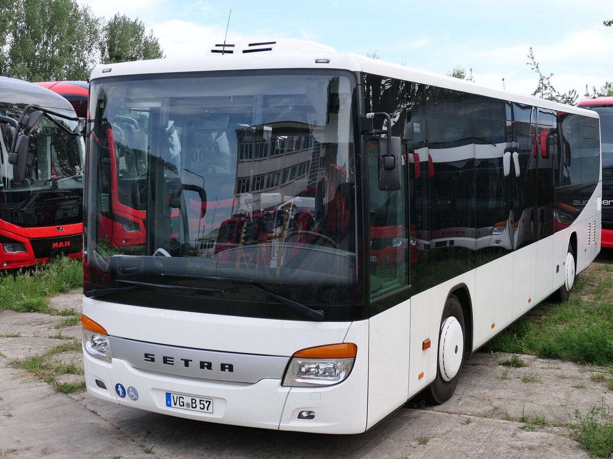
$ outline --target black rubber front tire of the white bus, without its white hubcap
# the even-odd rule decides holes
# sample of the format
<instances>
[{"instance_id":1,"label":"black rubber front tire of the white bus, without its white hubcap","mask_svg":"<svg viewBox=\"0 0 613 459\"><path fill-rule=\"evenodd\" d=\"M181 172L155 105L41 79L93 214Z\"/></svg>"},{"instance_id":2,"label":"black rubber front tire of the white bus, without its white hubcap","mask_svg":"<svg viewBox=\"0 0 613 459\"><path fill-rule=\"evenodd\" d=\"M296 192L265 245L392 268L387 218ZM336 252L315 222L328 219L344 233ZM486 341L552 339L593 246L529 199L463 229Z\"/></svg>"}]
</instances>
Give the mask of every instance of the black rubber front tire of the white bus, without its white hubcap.
<instances>
[{"instance_id":1,"label":"black rubber front tire of the white bus, without its white hubcap","mask_svg":"<svg viewBox=\"0 0 613 459\"><path fill-rule=\"evenodd\" d=\"M455 353L461 353L462 360L460 361L460 368L457 370L455 376L447 381L446 378L443 378L441 373L440 352L438 353L438 357L436 359L436 379L432 382L432 384L430 384L430 387L424 391L425 400L434 405L441 405L441 403L449 400L449 398L451 398L451 396L454 394L455 387L458 385L458 381L460 379L460 371L462 370L464 360L466 359L466 330L464 327L464 314L462 312L462 305L460 305L460 301L455 295L449 295L449 298L447 298L447 302L445 303L445 307L443 308L443 317L441 318L441 326L439 327L438 337L439 349L441 349L441 346L443 346L445 339L443 336L443 325L445 324L445 321L451 317L454 317L460 324L460 327L462 327L463 348L457 349L457 346L455 346Z\"/></svg>"}]
</instances>

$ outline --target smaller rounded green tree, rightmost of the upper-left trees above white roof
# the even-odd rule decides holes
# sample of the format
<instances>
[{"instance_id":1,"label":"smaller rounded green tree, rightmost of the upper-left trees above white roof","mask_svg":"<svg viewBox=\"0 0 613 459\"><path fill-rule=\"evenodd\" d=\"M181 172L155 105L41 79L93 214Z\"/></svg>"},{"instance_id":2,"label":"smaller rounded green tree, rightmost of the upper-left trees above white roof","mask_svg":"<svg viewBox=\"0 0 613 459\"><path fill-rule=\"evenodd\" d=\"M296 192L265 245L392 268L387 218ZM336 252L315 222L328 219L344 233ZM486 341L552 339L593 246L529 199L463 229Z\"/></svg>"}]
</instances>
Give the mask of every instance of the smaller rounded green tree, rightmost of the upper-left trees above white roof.
<instances>
[{"instance_id":1,"label":"smaller rounded green tree, rightmost of the upper-left trees above white roof","mask_svg":"<svg viewBox=\"0 0 613 459\"><path fill-rule=\"evenodd\" d=\"M142 21L119 13L102 28L100 50L104 64L164 57L153 31L145 34Z\"/></svg>"}]
</instances>

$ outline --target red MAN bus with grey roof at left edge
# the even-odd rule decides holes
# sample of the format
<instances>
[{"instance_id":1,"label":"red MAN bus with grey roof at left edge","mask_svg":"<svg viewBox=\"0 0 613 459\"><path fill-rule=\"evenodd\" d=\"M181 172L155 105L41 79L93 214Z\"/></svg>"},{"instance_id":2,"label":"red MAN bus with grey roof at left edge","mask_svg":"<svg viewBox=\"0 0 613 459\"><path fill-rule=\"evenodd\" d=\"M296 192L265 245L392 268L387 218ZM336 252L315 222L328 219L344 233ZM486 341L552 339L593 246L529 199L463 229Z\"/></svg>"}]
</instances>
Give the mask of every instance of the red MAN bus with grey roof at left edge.
<instances>
[{"instance_id":1,"label":"red MAN bus with grey roof at left edge","mask_svg":"<svg viewBox=\"0 0 613 459\"><path fill-rule=\"evenodd\" d=\"M47 111L29 135L24 176L9 151L18 120ZM0 269L47 263L56 255L81 258L85 146L75 112L63 97L36 84L0 77Z\"/></svg>"}]
</instances>

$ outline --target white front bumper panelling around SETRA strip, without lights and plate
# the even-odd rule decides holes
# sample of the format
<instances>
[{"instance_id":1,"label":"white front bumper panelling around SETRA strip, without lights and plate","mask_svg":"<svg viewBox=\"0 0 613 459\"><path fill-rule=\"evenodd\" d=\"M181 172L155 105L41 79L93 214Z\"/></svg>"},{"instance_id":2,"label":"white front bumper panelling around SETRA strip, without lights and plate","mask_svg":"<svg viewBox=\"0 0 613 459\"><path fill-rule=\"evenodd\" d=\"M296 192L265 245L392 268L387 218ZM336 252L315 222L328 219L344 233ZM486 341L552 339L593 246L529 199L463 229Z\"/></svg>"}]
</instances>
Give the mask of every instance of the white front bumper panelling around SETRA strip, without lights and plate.
<instances>
[{"instance_id":1,"label":"white front bumper panelling around SETRA strip, without lights and plate","mask_svg":"<svg viewBox=\"0 0 613 459\"><path fill-rule=\"evenodd\" d=\"M316 323L190 313L83 300L83 313L110 335L145 342L223 352L291 357L312 346L351 342L357 357L351 375L330 387L283 387L281 379L230 383L141 370L84 351L85 382L94 397L147 411L245 427L316 433L362 433L367 422L368 320ZM112 352L112 349L111 349ZM101 389L96 379L107 389ZM135 387L137 401L115 394L115 384ZM213 414L168 408L166 392L213 399ZM406 395L406 391L405 391ZM316 413L299 420L303 410Z\"/></svg>"}]
</instances>

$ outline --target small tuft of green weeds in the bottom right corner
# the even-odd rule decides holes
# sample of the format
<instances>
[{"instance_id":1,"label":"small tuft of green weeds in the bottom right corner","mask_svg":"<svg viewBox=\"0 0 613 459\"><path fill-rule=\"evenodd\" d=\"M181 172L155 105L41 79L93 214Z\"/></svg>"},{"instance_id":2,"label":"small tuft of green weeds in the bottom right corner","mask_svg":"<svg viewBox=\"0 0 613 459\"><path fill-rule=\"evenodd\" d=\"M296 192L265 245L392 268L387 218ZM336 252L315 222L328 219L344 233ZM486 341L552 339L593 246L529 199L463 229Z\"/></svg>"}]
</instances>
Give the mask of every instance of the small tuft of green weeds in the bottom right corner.
<instances>
[{"instance_id":1,"label":"small tuft of green weeds in the bottom right corner","mask_svg":"<svg viewBox=\"0 0 613 459\"><path fill-rule=\"evenodd\" d=\"M592 457L611 457L613 453L613 419L611 410L604 397L599 405L594 405L582 415L575 410L569 416L573 437L590 453Z\"/></svg>"}]
</instances>

